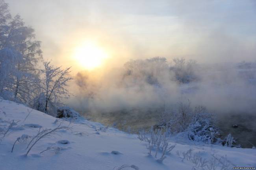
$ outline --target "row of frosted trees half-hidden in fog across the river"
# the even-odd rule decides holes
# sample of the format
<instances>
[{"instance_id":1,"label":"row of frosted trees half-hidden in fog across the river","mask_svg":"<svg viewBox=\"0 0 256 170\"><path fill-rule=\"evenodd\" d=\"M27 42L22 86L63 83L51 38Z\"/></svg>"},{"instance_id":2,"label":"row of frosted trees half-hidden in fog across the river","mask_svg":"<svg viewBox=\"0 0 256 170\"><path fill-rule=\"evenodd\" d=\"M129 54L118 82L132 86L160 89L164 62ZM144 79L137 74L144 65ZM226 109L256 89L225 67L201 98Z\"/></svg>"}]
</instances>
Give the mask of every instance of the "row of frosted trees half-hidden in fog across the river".
<instances>
[{"instance_id":1,"label":"row of frosted trees half-hidden in fog across the river","mask_svg":"<svg viewBox=\"0 0 256 170\"><path fill-rule=\"evenodd\" d=\"M161 87L166 82L189 83L198 80L197 63L194 60L174 58L173 63L164 57L154 57L146 60L130 60L124 64L122 83L125 86Z\"/></svg>"}]
</instances>

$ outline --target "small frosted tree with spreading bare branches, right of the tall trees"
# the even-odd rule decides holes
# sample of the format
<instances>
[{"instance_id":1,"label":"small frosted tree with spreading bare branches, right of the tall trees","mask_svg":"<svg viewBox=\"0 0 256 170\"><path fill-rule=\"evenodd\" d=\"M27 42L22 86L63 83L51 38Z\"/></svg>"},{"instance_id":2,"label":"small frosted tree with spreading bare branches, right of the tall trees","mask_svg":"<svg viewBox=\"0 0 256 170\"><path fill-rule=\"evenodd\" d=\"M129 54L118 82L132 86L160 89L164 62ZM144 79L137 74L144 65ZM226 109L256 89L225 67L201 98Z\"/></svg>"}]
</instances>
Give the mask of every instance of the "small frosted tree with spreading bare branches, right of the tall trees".
<instances>
[{"instance_id":1,"label":"small frosted tree with spreading bare branches, right of the tall trees","mask_svg":"<svg viewBox=\"0 0 256 170\"><path fill-rule=\"evenodd\" d=\"M67 82L72 78L70 77L70 67L61 69L53 66L48 61L44 62L44 66L45 68L41 70L43 78L39 87L39 95L36 98L34 107L37 110L48 113L50 106L52 106L51 108L58 106L59 99L69 97ZM53 109L51 109L51 112L53 112Z\"/></svg>"}]
</instances>

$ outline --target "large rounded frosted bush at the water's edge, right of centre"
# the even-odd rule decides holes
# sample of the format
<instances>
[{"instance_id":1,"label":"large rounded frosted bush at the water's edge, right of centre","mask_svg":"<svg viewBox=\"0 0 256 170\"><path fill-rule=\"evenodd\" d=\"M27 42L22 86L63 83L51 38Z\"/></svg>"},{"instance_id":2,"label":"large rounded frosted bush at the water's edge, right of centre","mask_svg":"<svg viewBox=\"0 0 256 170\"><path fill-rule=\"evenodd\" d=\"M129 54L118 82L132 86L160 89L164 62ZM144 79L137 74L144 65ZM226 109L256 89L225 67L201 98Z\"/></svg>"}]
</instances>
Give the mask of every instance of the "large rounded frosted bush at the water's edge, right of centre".
<instances>
[{"instance_id":1,"label":"large rounded frosted bush at the water's edge, right of centre","mask_svg":"<svg viewBox=\"0 0 256 170\"><path fill-rule=\"evenodd\" d=\"M176 112L163 113L160 116L160 128L168 129L169 132L188 138L192 141L208 144L220 141L219 130L215 127L213 115L207 113L203 106L191 108L190 102L180 102Z\"/></svg>"}]
</instances>

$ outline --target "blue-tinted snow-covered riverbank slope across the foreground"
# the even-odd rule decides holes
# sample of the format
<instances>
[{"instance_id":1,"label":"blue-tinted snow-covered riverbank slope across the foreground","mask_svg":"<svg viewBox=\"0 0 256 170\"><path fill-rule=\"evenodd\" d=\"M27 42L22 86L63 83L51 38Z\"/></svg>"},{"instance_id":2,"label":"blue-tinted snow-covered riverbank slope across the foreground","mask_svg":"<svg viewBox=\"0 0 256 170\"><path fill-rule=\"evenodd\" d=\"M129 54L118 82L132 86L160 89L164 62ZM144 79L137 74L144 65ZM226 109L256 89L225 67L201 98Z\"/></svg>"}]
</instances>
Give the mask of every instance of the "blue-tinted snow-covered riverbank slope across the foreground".
<instances>
[{"instance_id":1,"label":"blue-tinted snow-covered riverbank slope across the foreground","mask_svg":"<svg viewBox=\"0 0 256 170\"><path fill-rule=\"evenodd\" d=\"M5 136L0 134L0 170L113 170L116 166L136 165L140 170L190 170L194 166L190 161L182 161L182 155L177 151L187 152L193 149L193 153L210 159L225 156L236 166L256 166L256 150L243 148L228 148L223 146L188 145L176 144L171 155L163 163L158 163L154 157L147 155L146 142L139 141L137 135L121 132L115 128L108 128L106 132L96 133L96 129L104 127L97 122L85 119L76 120L69 125L69 121L46 115L45 113L32 110L25 120L30 108L10 101L0 101L0 129L9 126L8 121L19 121L11 129L13 133ZM25 121L24 121L25 120ZM72 127L72 130L62 131L54 137L40 140L32 148L28 156L26 146L29 141L17 142L13 153L13 143L22 134L36 135L39 128L24 126L24 124L39 124L43 128L56 128L59 123ZM18 128L17 128L18 127ZM76 135L82 132L82 135ZM68 140L69 144L56 143L59 140ZM174 144L174 142L173 142ZM48 146L62 147L58 153L54 150L45 150ZM111 154L111 151L119 151L122 154ZM154 151L153 151L154 155ZM233 165L232 165L233 166ZM200 169L200 168L197 168Z\"/></svg>"}]
</instances>

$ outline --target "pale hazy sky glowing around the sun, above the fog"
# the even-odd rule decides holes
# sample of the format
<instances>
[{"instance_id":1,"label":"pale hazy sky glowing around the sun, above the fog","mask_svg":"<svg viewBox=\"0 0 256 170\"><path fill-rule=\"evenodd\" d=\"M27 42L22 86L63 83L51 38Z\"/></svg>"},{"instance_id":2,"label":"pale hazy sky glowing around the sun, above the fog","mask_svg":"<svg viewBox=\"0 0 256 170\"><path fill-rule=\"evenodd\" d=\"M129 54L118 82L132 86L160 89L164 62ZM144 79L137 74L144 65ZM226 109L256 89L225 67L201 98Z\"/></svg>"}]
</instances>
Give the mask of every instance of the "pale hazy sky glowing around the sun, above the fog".
<instances>
[{"instance_id":1,"label":"pale hazy sky glowing around the sun, above the fog","mask_svg":"<svg viewBox=\"0 0 256 170\"><path fill-rule=\"evenodd\" d=\"M55 63L77 64L85 41L129 58L185 57L199 62L256 60L255 0L6 0Z\"/></svg>"}]
</instances>

